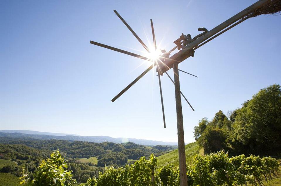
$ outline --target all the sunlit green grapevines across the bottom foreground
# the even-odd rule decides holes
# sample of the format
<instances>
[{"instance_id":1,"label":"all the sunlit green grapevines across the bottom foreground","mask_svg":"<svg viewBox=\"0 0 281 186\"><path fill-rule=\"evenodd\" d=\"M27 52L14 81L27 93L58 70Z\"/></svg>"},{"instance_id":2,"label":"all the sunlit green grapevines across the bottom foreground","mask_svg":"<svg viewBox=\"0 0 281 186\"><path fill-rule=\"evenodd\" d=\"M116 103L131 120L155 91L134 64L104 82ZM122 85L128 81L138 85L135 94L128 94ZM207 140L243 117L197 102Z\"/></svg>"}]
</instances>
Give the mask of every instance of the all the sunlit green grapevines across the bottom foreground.
<instances>
[{"instance_id":1,"label":"all the sunlit green grapevines across the bottom foreground","mask_svg":"<svg viewBox=\"0 0 281 186\"><path fill-rule=\"evenodd\" d=\"M73 185L71 171L58 151L51 154L51 158L42 161L35 170L33 178L28 180L23 167L22 183L28 185ZM272 179L272 175L279 172L279 163L271 157L239 155L229 158L223 150L206 156L196 156L193 165L187 166L189 185L242 185L249 182L253 185L263 184L263 178ZM179 186L179 169L166 164L157 169L157 158L151 154L149 159L141 157L132 165L114 168L106 167L98 178L84 174L81 177L85 183L80 186Z\"/></svg>"}]
</instances>

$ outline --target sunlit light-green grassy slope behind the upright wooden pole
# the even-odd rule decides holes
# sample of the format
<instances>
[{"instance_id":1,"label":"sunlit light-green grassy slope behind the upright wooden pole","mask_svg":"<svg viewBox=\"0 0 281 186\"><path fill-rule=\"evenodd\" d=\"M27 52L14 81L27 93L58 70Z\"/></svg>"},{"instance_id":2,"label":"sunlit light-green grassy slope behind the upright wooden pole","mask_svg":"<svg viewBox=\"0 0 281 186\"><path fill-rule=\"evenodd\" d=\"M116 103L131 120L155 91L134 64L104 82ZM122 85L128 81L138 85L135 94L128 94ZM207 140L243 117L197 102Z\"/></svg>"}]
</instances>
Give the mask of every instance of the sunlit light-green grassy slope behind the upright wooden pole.
<instances>
[{"instance_id":1,"label":"sunlit light-green grassy slope behind the upright wooden pole","mask_svg":"<svg viewBox=\"0 0 281 186\"><path fill-rule=\"evenodd\" d=\"M191 164L193 158L199 154L199 148L200 147L196 142L185 145L185 157L187 164ZM178 149L157 157L158 167L167 163L171 163L175 168L178 166Z\"/></svg>"}]
</instances>

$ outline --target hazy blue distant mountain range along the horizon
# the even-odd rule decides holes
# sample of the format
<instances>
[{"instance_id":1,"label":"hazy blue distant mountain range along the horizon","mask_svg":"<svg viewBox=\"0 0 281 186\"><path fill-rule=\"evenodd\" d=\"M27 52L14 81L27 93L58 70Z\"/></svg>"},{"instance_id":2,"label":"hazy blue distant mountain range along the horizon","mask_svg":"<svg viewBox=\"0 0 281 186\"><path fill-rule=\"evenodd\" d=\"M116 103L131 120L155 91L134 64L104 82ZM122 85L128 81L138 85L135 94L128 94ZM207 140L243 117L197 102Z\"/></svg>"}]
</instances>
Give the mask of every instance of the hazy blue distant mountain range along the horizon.
<instances>
[{"instance_id":1,"label":"hazy blue distant mountain range along the horizon","mask_svg":"<svg viewBox=\"0 0 281 186\"><path fill-rule=\"evenodd\" d=\"M124 142L134 142L140 145L178 145L177 142L161 142L147 139L135 139L135 138L113 138L109 136L79 136L74 134L61 134L61 133L51 133L51 132L38 132L33 130L0 130L0 137L6 138L21 138L22 140L49 140L49 139L61 139L68 141L86 141L86 142L114 142L114 143L124 143ZM11 140L11 139L9 139Z\"/></svg>"}]
</instances>

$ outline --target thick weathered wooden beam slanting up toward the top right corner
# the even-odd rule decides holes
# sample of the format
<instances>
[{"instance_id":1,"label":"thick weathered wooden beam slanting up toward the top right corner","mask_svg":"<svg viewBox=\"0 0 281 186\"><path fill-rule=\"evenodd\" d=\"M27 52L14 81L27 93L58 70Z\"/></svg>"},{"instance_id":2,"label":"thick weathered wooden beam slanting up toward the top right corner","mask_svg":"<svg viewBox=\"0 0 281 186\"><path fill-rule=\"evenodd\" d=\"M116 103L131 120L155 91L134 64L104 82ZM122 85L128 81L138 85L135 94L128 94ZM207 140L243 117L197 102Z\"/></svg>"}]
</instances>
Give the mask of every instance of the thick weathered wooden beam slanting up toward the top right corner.
<instances>
[{"instance_id":1,"label":"thick weathered wooden beam slanting up toward the top right corner","mask_svg":"<svg viewBox=\"0 0 281 186\"><path fill-rule=\"evenodd\" d=\"M236 21L242 19L243 17L245 17L249 13L253 12L257 8L259 8L259 7L263 6L264 4L268 3L268 1L269 0L257 1L256 3L252 4L248 8L244 9L243 11L237 13L236 15L232 16L228 20L224 21L220 25L214 27L212 30L207 32L205 35L199 37L198 39L196 39L195 41L193 41L192 43L187 45L187 47L185 49L180 50L178 53L171 56L170 60L165 60L164 63L166 64L166 66L168 66L168 68L166 66L161 66L161 72L164 73L167 70L169 70L170 68L172 68L174 61L178 61L178 63L180 63L180 62L184 61L185 59L189 58L191 55L193 55L193 48L194 47L196 47L200 43L204 42L205 40L209 39L210 37L212 37L216 33L222 31L224 28L226 28L226 27L230 26L231 24L235 23Z\"/></svg>"}]
</instances>

